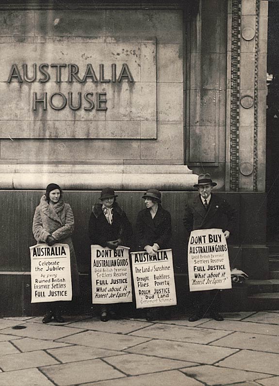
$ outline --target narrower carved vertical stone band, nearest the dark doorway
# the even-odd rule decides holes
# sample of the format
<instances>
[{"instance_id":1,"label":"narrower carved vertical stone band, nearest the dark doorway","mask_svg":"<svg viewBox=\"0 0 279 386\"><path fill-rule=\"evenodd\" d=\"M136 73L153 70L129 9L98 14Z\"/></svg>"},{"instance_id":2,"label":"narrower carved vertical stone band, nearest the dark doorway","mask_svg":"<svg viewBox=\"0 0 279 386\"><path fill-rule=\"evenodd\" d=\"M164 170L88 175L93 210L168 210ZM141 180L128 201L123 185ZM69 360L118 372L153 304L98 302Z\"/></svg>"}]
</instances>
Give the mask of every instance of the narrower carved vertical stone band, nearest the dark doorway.
<instances>
[{"instance_id":1,"label":"narrower carved vertical stone band, nearest the dark doorway","mask_svg":"<svg viewBox=\"0 0 279 386\"><path fill-rule=\"evenodd\" d=\"M259 23L260 0L256 0L256 28L255 28L255 79L254 79L254 162L253 162L253 191L258 191L258 76L259 76Z\"/></svg>"}]
</instances>

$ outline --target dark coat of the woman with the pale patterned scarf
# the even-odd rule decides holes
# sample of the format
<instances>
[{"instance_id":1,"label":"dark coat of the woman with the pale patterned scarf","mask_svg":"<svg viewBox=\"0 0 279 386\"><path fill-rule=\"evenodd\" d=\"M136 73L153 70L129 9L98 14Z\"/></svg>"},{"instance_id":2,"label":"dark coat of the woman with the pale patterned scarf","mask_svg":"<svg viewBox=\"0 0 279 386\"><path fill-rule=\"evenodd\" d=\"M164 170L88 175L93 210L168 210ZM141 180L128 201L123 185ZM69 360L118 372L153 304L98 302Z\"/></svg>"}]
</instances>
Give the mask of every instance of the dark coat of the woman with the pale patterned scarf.
<instances>
[{"instance_id":1,"label":"dark coat of the woman with the pale patterned scarf","mask_svg":"<svg viewBox=\"0 0 279 386\"><path fill-rule=\"evenodd\" d=\"M102 212L102 204L92 207L88 224L88 235L91 244L106 247L107 241L122 240L122 245L130 247L132 227L124 210L115 201L113 204L113 222L109 224Z\"/></svg>"}]
</instances>

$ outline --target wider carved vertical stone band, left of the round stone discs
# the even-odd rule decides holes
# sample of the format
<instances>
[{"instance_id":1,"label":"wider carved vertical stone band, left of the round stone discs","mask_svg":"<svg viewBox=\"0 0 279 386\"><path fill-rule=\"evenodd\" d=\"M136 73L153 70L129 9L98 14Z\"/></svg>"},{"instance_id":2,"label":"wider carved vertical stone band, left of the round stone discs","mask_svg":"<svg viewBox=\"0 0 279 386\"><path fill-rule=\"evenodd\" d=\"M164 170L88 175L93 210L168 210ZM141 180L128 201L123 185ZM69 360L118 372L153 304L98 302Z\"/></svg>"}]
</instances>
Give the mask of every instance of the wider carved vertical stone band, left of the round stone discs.
<instances>
[{"instance_id":1,"label":"wider carved vertical stone band, left of the round stone discs","mask_svg":"<svg viewBox=\"0 0 279 386\"><path fill-rule=\"evenodd\" d=\"M241 0L232 0L231 27L230 190L238 191Z\"/></svg>"}]
</instances>

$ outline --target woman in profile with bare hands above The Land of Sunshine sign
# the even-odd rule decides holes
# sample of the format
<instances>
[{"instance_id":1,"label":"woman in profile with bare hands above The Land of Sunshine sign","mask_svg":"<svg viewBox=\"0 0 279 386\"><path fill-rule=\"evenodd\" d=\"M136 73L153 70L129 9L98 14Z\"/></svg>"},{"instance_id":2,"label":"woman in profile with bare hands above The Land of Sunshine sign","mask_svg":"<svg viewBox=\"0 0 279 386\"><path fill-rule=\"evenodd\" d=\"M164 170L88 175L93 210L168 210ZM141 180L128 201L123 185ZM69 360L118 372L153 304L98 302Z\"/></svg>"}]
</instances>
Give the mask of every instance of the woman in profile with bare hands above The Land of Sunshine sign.
<instances>
[{"instance_id":1,"label":"woman in profile with bare hands above The Land of Sunshine sign","mask_svg":"<svg viewBox=\"0 0 279 386\"><path fill-rule=\"evenodd\" d=\"M162 208L161 193L149 189L144 196L146 209L139 212L136 220L137 250L154 256L160 249L169 249L171 240L171 216ZM156 319L158 307L149 308L146 319Z\"/></svg>"}]
</instances>

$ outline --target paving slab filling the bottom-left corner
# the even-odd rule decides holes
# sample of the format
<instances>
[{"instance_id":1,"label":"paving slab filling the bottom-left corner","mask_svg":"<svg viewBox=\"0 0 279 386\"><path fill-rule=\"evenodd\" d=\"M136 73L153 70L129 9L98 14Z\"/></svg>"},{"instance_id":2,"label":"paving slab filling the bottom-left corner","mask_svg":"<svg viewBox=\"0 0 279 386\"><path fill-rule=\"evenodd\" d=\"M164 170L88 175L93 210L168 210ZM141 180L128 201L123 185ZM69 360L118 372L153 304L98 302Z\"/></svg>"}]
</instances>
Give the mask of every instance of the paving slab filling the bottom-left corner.
<instances>
[{"instance_id":1,"label":"paving slab filling the bottom-left corner","mask_svg":"<svg viewBox=\"0 0 279 386\"><path fill-rule=\"evenodd\" d=\"M53 383L38 369L28 369L2 372L0 386L53 386Z\"/></svg>"}]
</instances>

